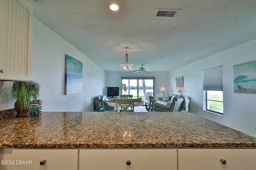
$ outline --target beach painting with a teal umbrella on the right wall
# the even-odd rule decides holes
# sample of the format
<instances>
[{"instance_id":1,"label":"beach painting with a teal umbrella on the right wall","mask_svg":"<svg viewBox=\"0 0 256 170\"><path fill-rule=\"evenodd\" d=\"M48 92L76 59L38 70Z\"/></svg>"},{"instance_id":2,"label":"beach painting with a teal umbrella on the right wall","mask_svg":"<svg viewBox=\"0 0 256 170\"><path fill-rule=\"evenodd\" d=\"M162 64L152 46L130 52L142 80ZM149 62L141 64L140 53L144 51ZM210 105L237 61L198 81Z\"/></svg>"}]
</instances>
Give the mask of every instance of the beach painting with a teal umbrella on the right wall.
<instances>
[{"instance_id":1,"label":"beach painting with a teal umbrella on the right wall","mask_svg":"<svg viewBox=\"0 0 256 170\"><path fill-rule=\"evenodd\" d=\"M256 61L234 65L234 93L256 94Z\"/></svg>"}]
</instances>

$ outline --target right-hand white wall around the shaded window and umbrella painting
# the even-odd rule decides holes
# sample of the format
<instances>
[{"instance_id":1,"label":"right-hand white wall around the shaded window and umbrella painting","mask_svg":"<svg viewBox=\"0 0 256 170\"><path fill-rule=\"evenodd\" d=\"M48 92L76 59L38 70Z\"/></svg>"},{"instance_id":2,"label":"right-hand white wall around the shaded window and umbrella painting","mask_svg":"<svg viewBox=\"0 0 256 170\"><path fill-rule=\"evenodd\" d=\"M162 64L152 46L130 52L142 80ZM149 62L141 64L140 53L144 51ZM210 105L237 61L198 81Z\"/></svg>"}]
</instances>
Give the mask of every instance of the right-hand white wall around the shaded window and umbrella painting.
<instances>
[{"instance_id":1,"label":"right-hand white wall around the shaded window and umbrella painting","mask_svg":"<svg viewBox=\"0 0 256 170\"><path fill-rule=\"evenodd\" d=\"M189 111L226 125L248 135L254 136L256 127L256 94L234 93L233 65L256 60L256 39L227 49L200 61L188 64L169 72L171 92L175 90L175 78L184 76L186 96L190 98ZM222 65L224 116L203 111L203 77L202 71Z\"/></svg>"}]
</instances>

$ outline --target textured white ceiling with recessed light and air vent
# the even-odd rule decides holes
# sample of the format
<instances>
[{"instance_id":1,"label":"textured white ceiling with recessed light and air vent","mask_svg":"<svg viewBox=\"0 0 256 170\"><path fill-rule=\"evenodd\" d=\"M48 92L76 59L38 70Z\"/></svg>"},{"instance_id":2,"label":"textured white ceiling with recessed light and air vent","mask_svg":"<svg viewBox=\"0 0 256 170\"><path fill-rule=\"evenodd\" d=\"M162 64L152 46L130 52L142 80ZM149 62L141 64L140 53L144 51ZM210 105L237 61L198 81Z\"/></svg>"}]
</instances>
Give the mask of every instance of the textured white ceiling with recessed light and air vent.
<instances>
[{"instance_id":1,"label":"textured white ceiling with recessed light and air vent","mask_svg":"<svg viewBox=\"0 0 256 170\"><path fill-rule=\"evenodd\" d=\"M169 71L256 38L256 0L34 0L34 16L106 71ZM121 9L111 12L111 2ZM157 9L180 10L154 18Z\"/></svg>"}]
</instances>

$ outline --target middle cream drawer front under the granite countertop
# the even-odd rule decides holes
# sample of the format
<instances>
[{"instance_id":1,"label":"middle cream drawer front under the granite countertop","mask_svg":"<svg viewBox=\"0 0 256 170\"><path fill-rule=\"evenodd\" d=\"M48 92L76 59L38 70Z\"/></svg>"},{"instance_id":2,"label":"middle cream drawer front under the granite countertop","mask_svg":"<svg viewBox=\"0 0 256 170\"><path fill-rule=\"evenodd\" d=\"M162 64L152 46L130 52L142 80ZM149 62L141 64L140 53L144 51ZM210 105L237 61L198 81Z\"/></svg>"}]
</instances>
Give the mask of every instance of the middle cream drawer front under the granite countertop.
<instances>
[{"instance_id":1,"label":"middle cream drawer front under the granite countertop","mask_svg":"<svg viewBox=\"0 0 256 170\"><path fill-rule=\"evenodd\" d=\"M127 165L130 161L130 165ZM177 170L176 149L80 149L80 170Z\"/></svg>"}]
</instances>

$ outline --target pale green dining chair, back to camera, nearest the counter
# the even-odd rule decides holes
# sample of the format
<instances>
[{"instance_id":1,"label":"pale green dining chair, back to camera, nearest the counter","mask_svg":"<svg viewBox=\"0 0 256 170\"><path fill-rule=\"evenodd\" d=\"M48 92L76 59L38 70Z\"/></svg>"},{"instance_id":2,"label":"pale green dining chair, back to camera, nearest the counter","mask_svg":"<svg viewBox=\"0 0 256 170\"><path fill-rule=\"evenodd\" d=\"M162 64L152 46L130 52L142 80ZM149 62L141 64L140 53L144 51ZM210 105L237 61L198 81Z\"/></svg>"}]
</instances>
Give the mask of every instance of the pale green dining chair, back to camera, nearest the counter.
<instances>
[{"instance_id":1,"label":"pale green dining chair, back to camera, nearest the counter","mask_svg":"<svg viewBox=\"0 0 256 170\"><path fill-rule=\"evenodd\" d=\"M134 102L135 99L116 99L116 111L118 111L118 107L121 107L120 112L123 111L134 111ZM131 109L129 109L131 107Z\"/></svg>"}]
</instances>

